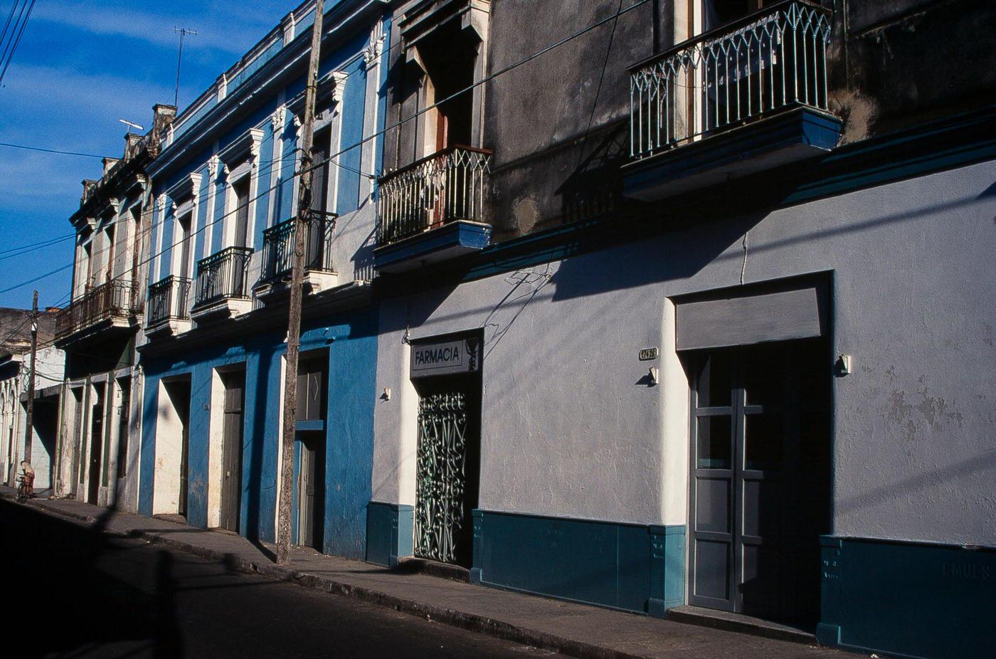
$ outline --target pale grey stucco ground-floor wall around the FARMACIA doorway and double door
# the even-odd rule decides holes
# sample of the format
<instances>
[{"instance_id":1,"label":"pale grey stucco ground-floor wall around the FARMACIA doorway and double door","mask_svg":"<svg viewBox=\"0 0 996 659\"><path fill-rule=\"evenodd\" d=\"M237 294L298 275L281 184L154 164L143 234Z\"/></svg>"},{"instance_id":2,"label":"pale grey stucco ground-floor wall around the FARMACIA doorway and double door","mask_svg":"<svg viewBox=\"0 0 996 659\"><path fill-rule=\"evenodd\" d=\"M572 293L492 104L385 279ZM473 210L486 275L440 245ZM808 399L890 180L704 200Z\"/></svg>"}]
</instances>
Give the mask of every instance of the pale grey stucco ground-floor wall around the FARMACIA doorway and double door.
<instances>
[{"instance_id":1,"label":"pale grey stucco ground-floor wall around the FARMACIA doorway and double door","mask_svg":"<svg viewBox=\"0 0 996 659\"><path fill-rule=\"evenodd\" d=\"M687 423L668 410L686 418L687 385L648 387L637 360L660 346L665 385L680 369L667 298L827 272L834 355L854 357L828 530L996 545L994 181L973 165L385 300L376 386L397 395L376 407L373 499L414 498L406 329L483 328L480 507L683 523Z\"/></svg>"}]
</instances>

